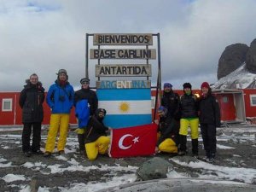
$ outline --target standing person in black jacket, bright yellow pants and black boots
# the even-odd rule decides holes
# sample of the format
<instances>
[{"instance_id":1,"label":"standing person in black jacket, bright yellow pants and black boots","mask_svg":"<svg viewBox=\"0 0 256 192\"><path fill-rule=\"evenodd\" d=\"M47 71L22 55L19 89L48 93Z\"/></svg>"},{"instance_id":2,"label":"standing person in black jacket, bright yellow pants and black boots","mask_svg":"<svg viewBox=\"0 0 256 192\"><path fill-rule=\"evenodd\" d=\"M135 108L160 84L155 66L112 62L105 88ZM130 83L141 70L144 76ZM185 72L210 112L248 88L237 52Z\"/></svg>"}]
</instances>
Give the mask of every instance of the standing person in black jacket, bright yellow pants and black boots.
<instances>
[{"instance_id":1,"label":"standing person in black jacket, bright yellow pants and black boots","mask_svg":"<svg viewBox=\"0 0 256 192\"><path fill-rule=\"evenodd\" d=\"M191 143L192 143L192 154L198 157L198 99L192 94L192 85L189 83L183 84L183 96L180 98L180 148L178 155L184 155L187 152L187 135L188 128L191 130Z\"/></svg>"}]
</instances>

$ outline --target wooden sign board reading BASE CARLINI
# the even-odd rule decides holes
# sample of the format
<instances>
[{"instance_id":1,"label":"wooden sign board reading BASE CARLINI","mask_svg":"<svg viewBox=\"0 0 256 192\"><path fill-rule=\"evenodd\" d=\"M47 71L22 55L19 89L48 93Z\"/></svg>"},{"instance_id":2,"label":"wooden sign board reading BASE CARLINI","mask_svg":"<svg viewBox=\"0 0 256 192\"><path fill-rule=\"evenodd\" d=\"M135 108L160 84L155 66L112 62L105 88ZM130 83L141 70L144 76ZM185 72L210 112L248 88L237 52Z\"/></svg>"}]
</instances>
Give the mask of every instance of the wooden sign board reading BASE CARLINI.
<instances>
[{"instance_id":1,"label":"wooden sign board reading BASE CARLINI","mask_svg":"<svg viewBox=\"0 0 256 192\"><path fill-rule=\"evenodd\" d=\"M151 59L155 49L90 49L90 59Z\"/></svg>"}]
</instances>

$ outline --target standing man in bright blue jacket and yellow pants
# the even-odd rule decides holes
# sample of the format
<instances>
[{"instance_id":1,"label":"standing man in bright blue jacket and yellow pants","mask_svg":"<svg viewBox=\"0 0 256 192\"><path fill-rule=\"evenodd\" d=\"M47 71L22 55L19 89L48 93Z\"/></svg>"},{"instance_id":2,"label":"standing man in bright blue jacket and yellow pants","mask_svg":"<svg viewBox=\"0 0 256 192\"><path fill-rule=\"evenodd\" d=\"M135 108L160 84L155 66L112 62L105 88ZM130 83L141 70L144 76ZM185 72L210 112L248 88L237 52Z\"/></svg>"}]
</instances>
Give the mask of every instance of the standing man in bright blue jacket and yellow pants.
<instances>
[{"instance_id":1,"label":"standing man in bright blue jacket and yellow pants","mask_svg":"<svg viewBox=\"0 0 256 192\"><path fill-rule=\"evenodd\" d=\"M56 75L57 79L54 84L50 85L46 96L46 102L51 108L51 115L44 157L49 157L54 151L58 132L58 154L64 153L67 142L69 114L71 108L73 108L74 90L73 86L67 81L67 71L60 69Z\"/></svg>"}]
</instances>

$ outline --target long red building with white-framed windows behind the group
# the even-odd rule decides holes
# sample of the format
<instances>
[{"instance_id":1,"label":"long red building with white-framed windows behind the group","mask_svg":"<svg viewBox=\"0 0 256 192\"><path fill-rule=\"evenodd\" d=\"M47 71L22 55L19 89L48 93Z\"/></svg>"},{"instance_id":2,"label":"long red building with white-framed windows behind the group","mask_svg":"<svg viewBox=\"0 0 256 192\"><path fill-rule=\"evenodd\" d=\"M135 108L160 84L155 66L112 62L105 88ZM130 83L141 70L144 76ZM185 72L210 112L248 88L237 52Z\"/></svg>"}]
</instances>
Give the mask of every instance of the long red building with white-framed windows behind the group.
<instances>
[{"instance_id":1,"label":"long red building with white-framed windows behind the group","mask_svg":"<svg viewBox=\"0 0 256 192\"><path fill-rule=\"evenodd\" d=\"M179 95L183 90L175 90ZM193 90L200 93L201 90ZM245 90L214 90L217 97L222 120L224 122L244 122L256 119L256 89ZM22 125L21 109L19 106L20 92L0 92L0 125ZM155 90L152 90L152 115L154 117ZM44 125L49 125L50 109L44 102ZM74 108L72 109L70 123L76 124ZM255 121L256 123L256 121Z\"/></svg>"}]
</instances>

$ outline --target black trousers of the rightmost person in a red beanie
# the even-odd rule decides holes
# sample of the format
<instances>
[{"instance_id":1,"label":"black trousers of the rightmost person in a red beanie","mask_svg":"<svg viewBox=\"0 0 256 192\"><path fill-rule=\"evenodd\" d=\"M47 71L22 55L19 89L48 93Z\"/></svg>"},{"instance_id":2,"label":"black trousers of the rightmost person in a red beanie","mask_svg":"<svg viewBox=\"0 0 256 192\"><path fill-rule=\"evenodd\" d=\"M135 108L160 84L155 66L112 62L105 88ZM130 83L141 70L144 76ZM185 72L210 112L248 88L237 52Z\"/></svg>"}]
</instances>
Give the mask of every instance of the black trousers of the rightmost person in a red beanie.
<instances>
[{"instance_id":1,"label":"black trousers of the rightmost person in a red beanie","mask_svg":"<svg viewBox=\"0 0 256 192\"><path fill-rule=\"evenodd\" d=\"M214 158L216 154L216 126L201 124L201 136L208 158Z\"/></svg>"}]
</instances>

